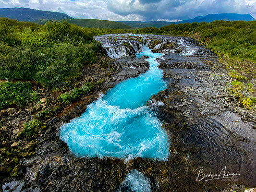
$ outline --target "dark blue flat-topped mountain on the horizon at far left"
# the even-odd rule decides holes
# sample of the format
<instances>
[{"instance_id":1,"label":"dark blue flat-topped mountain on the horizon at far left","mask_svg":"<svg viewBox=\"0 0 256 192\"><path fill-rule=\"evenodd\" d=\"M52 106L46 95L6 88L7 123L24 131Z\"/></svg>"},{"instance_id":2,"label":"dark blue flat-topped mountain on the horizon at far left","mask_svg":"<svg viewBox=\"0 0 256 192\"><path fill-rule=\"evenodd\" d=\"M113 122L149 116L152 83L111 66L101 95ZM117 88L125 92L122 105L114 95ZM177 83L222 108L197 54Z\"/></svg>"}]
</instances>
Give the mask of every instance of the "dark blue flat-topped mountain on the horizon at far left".
<instances>
[{"instance_id":1,"label":"dark blue flat-topped mountain on the horizon at far left","mask_svg":"<svg viewBox=\"0 0 256 192\"><path fill-rule=\"evenodd\" d=\"M0 8L0 17L31 22L39 19L73 19L72 17L61 12L48 12L29 8Z\"/></svg>"}]
</instances>

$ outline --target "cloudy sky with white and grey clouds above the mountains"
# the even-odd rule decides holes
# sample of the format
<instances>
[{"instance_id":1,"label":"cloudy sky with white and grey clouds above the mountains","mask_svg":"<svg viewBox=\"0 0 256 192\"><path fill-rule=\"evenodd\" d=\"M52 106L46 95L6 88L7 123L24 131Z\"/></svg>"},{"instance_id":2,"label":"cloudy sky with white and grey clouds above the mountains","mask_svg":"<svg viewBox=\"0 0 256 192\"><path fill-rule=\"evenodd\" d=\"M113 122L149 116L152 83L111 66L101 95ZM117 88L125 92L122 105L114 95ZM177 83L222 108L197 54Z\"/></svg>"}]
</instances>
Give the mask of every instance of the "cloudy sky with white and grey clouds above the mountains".
<instances>
[{"instance_id":1,"label":"cloudy sky with white and grey clouds above the mountains","mask_svg":"<svg viewBox=\"0 0 256 192\"><path fill-rule=\"evenodd\" d=\"M0 0L0 8L12 7L112 21L177 21L226 12L256 18L256 0Z\"/></svg>"}]
</instances>

